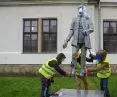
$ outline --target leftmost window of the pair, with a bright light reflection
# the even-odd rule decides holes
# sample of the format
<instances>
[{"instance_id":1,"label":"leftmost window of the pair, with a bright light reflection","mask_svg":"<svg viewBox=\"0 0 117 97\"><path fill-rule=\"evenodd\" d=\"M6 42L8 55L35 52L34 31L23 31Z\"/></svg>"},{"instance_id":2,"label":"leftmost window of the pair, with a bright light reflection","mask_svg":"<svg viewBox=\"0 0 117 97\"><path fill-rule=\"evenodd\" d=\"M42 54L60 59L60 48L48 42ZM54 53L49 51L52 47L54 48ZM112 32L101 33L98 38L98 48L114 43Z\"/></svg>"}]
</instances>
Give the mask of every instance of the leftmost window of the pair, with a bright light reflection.
<instances>
[{"instance_id":1,"label":"leftmost window of the pair, with a bright light reflection","mask_svg":"<svg viewBox=\"0 0 117 97\"><path fill-rule=\"evenodd\" d=\"M23 52L38 52L38 19L23 20Z\"/></svg>"}]
</instances>

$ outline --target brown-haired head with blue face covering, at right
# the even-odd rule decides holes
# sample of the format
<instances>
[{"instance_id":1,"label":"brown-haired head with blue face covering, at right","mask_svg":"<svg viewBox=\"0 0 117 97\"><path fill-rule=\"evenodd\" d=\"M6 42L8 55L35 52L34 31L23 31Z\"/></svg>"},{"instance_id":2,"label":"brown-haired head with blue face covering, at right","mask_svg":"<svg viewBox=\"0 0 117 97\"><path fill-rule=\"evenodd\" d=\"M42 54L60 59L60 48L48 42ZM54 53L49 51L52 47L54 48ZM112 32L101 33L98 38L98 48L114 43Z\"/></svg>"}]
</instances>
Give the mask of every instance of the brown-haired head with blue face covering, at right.
<instances>
[{"instance_id":1,"label":"brown-haired head with blue face covering, at right","mask_svg":"<svg viewBox=\"0 0 117 97\"><path fill-rule=\"evenodd\" d=\"M107 52L105 50L99 50L97 53L96 53L96 59L98 61L104 61L105 58L107 56Z\"/></svg>"}]
</instances>

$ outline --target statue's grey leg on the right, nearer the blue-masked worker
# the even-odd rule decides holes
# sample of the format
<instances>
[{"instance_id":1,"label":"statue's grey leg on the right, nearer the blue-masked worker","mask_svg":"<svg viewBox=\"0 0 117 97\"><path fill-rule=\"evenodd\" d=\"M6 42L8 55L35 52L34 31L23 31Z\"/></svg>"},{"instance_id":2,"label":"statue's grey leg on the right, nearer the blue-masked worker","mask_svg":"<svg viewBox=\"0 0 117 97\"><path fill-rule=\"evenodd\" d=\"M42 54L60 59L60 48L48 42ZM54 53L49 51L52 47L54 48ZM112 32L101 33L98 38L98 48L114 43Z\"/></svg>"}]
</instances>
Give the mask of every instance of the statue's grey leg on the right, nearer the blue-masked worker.
<instances>
[{"instance_id":1,"label":"statue's grey leg on the right, nearer the blue-masked worker","mask_svg":"<svg viewBox=\"0 0 117 97\"><path fill-rule=\"evenodd\" d=\"M85 47L85 44L82 44L81 45L81 71L80 71L81 76L83 76L85 73L86 52L87 52L87 48Z\"/></svg>"}]
</instances>

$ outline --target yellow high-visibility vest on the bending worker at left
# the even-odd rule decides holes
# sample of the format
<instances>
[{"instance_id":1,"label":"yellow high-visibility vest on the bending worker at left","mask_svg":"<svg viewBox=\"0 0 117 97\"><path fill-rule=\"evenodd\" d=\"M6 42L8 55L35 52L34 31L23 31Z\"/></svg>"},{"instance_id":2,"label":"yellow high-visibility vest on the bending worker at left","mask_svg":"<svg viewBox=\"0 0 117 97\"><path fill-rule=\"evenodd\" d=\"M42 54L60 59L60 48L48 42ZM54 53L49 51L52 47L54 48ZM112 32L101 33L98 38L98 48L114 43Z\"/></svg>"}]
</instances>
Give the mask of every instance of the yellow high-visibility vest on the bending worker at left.
<instances>
[{"instance_id":1,"label":"yellow high-visibility vest on the bending worker at left","mask_svg":"<svg viewBox=\"0 0 117 97\"><path fill-rule=\"evenodd\" d=\"M40 74L42 74L45 78L47 79L51 79L55 74L56 74L56 70L53 68L53 67L50 67L48 65L49 61L52 61L52 60L56 60L56 58L52 58L48 61L46 61L42 67L40 67L40 69L38 70L38 72ZM57 60L56 60L57 61Z\"/></svg>"}]
</instances>

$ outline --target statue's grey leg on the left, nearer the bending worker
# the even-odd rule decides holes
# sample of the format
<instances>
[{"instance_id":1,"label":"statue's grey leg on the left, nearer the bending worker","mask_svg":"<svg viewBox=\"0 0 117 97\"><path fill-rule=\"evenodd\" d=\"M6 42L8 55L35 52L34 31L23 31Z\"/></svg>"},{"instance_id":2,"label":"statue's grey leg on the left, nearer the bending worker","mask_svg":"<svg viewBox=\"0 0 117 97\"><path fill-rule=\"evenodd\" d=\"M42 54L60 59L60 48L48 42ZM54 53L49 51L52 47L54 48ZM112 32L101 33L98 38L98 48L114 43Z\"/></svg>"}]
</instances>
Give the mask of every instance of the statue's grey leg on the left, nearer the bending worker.
<instances>
[{"instance_id":1,"label":"statue's grey leg on the left, nearer the bending worker","mask_svg":"<svg viewBox=\"0 0 117 97\"><path fill-rule=\"evenodd\" d=\"M74 74L75 73L75 66L76 66L76 64L77 64L77 59L76 59L76 53L79 51L79 46L72 46L72 70L71 70L71 72L72 72L72 74Z\"/></svg>"}]
</instances>

